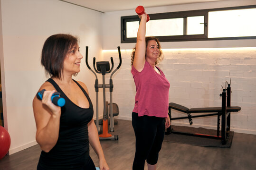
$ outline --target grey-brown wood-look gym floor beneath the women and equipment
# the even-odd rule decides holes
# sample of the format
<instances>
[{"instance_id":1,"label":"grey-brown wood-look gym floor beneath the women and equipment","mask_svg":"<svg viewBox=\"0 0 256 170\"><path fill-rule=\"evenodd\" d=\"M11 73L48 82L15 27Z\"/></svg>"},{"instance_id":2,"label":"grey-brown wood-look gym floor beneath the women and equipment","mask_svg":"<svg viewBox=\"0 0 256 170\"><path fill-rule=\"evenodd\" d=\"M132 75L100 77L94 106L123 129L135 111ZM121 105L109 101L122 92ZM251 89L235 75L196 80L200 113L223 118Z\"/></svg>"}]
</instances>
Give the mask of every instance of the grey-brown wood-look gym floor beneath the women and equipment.
<instances>
[{"instance_id":1,"label":"grey-brown wood-look gym floor beneath the women and equipment","mask_svg":"<svg viewBox=\"0 0 256 170\"><path fill-rule=\"evenodd\" d=\"M111 170L132 170L135 138L132 122L118 120L118 141L101 141ZM98 159L91 149L91 157ZM0 160L0 170L36 170L38 145L7 155ZM231 148L211 148L163 142L157 170L256 170L256 135L235 133ZM147 170L147 168L145 168Z\"/></svg>"}]
</instances>

